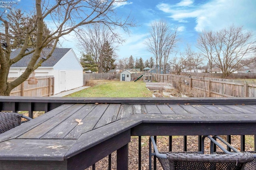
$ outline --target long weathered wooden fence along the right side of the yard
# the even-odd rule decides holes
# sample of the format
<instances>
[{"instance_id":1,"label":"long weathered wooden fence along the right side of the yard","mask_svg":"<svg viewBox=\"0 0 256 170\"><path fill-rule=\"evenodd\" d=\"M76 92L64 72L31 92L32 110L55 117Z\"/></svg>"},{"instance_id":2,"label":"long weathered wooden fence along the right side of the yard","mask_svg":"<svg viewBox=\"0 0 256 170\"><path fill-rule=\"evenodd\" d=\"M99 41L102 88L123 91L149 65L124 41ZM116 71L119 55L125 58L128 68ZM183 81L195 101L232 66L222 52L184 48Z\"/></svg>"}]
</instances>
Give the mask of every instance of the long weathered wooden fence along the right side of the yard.
<instances>
[{"instance_id":1,"label":"long weathered wooden fence along the right side of the yard","mask_svg":"<svg viewBox=\"0 0 256 170\"><path fill-rule=\"evenodd\" d=\"M256 82L206 77L153 74L158 82L168 82L182 89L193 88L204 92L207 97L256 97Z\"/></svg>"}]
</instances>

